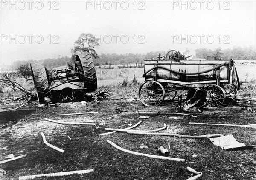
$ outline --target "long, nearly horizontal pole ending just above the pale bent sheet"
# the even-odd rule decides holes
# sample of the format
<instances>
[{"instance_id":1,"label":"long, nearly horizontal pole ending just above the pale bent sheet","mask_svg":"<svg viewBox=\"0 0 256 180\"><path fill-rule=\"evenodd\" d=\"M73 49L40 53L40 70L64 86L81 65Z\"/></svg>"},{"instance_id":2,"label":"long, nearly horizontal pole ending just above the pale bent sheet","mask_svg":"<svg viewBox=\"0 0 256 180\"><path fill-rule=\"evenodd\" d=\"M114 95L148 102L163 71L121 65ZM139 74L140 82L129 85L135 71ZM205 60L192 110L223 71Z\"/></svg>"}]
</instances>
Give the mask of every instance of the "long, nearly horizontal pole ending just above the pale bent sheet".
<instances>
[{"instance_id":1,"label":"long, nearly horizontal pole ending just above the pale bent sheet","mask_svg":"<svg viewBox=\"0 0 256 180\"><path fill-rule=\"evenodd\" d=\"M158 132L137 132L137 131L127 131L128 134L137 134L137 135L162 135L162 136L175 136L179 138L215 138L221 137L224 135L221 134L212 134L212 135L178 135L178 134L170 134L170 133L158 133Z\"/></svg>"}]
</instances>

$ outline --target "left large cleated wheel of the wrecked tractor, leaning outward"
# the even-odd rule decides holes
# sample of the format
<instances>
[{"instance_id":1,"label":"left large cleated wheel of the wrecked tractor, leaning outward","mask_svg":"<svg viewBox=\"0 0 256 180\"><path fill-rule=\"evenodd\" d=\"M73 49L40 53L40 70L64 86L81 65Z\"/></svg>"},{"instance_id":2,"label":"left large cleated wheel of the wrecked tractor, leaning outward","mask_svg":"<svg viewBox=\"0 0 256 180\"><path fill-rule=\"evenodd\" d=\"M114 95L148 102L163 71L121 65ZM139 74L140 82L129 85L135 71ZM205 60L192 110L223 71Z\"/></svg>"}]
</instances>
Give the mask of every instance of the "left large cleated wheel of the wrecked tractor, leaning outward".
<instances>
[{"instance_id":1,"label":"left large cleated wheel of the wrecked tractor, leaning outward","mask_svg":"<svg viewBox=\"0 0 256 180\"><path fill-rule=\"evenodd\" d=\"M47 96L46 88L50 87L49 73L43 64L33 62L30 64L36 96L39 103L44 103L44 97ZM48 74L47 74L48 73Z\"/></svg>"}]
</instances>

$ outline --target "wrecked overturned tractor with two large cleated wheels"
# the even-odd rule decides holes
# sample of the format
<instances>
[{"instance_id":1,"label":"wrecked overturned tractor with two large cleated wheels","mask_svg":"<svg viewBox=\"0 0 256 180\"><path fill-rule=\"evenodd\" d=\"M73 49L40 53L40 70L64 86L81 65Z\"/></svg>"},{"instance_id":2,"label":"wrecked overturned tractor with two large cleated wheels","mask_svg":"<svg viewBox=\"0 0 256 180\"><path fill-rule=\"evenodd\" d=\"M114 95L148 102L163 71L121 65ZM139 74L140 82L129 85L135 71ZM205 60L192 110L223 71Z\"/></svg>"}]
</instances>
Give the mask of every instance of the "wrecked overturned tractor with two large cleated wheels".
<instances>
[{"instance_id":1,"label":"wrecked overturned tractor with two large cleated wheels","mask_svg":"<svg viewBox=\"0 0 256 180\"><path fill-rule=\"evenodd\" d=\"M74 73L64 68L53 70L51 76L41 63L30 66L39 103L81 101L85 93L97 89L96 70L88 52L77 53Z\"/></svg>"}]
</instances>

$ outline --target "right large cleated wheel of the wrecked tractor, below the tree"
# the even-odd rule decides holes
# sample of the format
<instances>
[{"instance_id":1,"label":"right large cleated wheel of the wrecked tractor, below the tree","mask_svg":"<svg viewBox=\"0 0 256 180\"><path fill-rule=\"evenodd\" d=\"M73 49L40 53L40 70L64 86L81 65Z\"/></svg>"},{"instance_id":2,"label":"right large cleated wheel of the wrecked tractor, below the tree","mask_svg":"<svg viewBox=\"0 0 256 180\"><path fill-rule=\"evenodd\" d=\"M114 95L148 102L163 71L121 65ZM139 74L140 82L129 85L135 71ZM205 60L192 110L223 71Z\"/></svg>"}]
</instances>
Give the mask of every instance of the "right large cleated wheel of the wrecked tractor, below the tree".
<instances>
[{"instance_id":1,"label":"right large cleated wheel of the wrecked tractor, below the tree","mask_svg":"<svg viewBox=\"0 0 256 180\"><path fill-rule=\"evenodd\" d=\"M79 62L81 64L79 64ZM79 72L79 76L82 82L84 82L84 93L90 93L97 90L97 76L94 68L93 59L87 51L78 52L76 55L76 72Z\"/></svg>"}]
</instances>

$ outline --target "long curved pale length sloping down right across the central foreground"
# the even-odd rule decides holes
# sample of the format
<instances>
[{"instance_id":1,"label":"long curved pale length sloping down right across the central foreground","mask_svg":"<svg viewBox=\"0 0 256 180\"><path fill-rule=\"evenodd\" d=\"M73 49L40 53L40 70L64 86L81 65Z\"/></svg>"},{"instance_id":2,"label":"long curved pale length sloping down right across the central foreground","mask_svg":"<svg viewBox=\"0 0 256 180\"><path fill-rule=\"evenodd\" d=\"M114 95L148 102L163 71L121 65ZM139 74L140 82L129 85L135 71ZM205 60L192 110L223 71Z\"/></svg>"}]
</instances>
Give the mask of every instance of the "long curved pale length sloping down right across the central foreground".
<instances>
[{"instance_id":1,"label":"long curved pale length sloping down right across the central foreground","mask_svg":"<svg viewBox=\"0 0 256 180\"><path fill-rule=\"evenodd\" d=\"M146 156L146 157L149 157L149 158L172 160L172 161L178 161L178 162L185 162L186 161L185 159L180 159L180 158L169 158L169 157L165 157L165 156L148 155L148 154L144 154L144 153L140 153L140 152L134 152L134 151L130 151L130 150L127 150L127 149L123 149L122 147L117 146L115 143L113 143L109 140L107 140L107 142L109 144L111 144L111 146L115 147L116 149L119 149L123 152L127 152L127 153L130 153L130 154L133 154L133 155L140 155L140 156Z\"/></svg>"}]
</instances>

